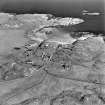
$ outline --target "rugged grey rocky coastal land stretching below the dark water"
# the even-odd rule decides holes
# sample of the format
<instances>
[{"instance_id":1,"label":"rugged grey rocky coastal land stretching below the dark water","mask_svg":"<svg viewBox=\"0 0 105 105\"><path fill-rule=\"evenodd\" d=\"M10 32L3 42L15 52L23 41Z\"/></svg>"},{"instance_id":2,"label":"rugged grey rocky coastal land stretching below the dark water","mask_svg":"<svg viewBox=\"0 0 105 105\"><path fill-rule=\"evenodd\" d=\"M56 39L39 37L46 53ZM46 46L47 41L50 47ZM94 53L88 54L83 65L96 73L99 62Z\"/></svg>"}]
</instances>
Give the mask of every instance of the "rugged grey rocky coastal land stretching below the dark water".
<instances>
[{"instance_id":1,"label":"rugged grey rocky coastal land stretching below the dark water","mask_svg":"<svg viewBox=\"0 0 105 105\"><path fill-rule=\"evenodd\" d=\"M82 37L73 38L58 28L82 22L79 18L26 14L8 17L1 24L2 32L21 30L20 39L27 39L17 41L18 34L3 38L14 46L0 55L1 105L105 104L103 37L74 32Z\"/></svg>"}]
</instances>

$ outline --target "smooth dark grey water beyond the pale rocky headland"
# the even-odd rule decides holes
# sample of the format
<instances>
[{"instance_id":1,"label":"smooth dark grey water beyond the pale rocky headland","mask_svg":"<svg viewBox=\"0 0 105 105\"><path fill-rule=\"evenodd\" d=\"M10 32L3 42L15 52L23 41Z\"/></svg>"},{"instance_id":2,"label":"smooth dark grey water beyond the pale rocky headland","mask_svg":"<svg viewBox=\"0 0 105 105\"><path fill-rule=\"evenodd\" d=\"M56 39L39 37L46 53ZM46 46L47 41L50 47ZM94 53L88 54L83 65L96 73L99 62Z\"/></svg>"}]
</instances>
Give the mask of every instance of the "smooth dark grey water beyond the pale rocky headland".
<instances>
[{"instance_id":1,"label":"smooth dark grey water beyond the pale rocky headland","mask_svg":"<svg viewBox=\"0 0 105 105\"><path fill-rule=\"evenodd\" d=\"M39 0L40 1L40 0ZM104 33L104 2L4 2L0 6L1 12L15 14L46 13L58 17L76 17L84 19L84 23L75 27L77 31ZM100 12L99 16L82 15L82 11ZM68 28L69 29L69 28Z\"/></svg>"}]
</instances>

